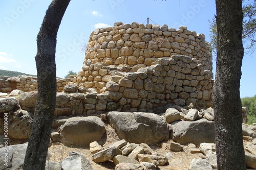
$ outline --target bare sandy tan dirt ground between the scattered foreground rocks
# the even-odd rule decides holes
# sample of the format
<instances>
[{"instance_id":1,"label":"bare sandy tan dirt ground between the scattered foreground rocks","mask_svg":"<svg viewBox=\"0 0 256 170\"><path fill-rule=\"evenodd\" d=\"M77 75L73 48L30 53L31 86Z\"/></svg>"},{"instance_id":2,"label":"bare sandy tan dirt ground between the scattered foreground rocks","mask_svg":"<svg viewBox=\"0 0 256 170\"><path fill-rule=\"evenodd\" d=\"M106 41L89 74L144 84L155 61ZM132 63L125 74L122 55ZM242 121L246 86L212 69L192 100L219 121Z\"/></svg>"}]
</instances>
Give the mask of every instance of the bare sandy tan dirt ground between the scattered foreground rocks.
<instances>
[{"instance_id":1,"label":"bare sandy tan dirt ground between the scattered foreground rocks","mask_svg":"<svg viewBox=\"0 0 256 170\"><path fill-rule=\"evenodd\" d=\"M112 129L110 125L107 125L106 135L103 136L103 139L102 139L102 141L104 142L103 147L119 140L120 139L118 138L114 129ZM170 140L163 142L161 144L151 145L151 148L158 153L166 154L170 152L173 155L173 157L168 160L168 163L166 163L164 166L159 166L158 169L161 169L161 170L172 170L172 169L185 170L186 169L187 170L192 159L201 158L201 156L203 156L202 153L191 154L189 153L188 150L185 150L182 152L172 152L168 148L169 142ZM51 161L61 162L63 159L69 156L70 152L77 151L86 155L93 169L97 169L97 170L115 169L115 164L111 160L102 162L102 163L95 163L92 160L92 154L90 153L89 147L67 147L62 143L52 143L51 147L49 148L49 151L52 154L50 158Z\"/></svg>"}]
</instances>

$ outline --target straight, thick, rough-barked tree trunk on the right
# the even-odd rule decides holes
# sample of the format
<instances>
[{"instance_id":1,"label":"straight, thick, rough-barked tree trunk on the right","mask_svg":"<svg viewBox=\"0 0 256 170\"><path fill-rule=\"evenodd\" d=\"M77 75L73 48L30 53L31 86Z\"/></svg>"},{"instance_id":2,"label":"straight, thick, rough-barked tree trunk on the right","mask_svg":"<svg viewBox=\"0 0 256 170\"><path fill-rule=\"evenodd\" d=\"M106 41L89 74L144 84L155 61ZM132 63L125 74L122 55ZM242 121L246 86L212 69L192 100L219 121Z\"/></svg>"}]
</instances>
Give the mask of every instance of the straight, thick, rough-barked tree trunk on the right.
<instances>
[{"instance_id":1,"label":"straight, thick, rough-barked tree trunk on the right","mask_svg":"<svg viewBox=\"0 0 256 170\"><path fill-rule=\"evenodd\" d=\"M216 0L216 9L214 112L218 169L244 170L246 166L239 91L244 55L242 0Z\"/></svg>"}]
</instances>

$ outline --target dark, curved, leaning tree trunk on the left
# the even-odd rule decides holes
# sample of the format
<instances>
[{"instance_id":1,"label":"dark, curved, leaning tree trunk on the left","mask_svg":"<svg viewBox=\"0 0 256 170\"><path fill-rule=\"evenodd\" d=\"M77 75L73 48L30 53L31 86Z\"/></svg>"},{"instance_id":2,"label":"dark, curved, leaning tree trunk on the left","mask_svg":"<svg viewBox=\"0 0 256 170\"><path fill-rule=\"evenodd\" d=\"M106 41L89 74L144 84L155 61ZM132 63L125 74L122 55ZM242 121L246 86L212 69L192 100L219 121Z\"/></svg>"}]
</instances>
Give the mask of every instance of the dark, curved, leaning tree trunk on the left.
<instances>
[{"instance_id":1,"label":"dark, curved, leaning tree trunk on the left","mask_svg":"<svg viewBox=\"0 0 256 170\"><path fill-rule=\"evenodd\" d=\"M24 170L45 169L56 101L56 38L70 0L53 0L37 35L38 98Z\"/></svg>"}]
</instances>

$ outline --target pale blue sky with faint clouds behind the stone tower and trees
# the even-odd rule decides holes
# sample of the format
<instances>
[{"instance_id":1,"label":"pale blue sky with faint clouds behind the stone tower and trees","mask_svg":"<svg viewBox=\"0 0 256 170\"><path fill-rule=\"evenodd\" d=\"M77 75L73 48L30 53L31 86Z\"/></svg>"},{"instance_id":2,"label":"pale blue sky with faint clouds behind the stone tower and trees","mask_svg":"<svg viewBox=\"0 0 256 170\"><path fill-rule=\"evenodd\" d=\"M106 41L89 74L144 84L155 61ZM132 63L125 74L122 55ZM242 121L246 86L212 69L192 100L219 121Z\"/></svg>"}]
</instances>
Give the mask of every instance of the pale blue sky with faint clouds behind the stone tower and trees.
<instances>
[{"instance_id":1,"label":"pale blue sky with faint clouds behind the stone tower and trees","mask_svg":"<svg viewBox=\"0 0 256 170\"><path fill-rule=\"evenodd\" d=\"M51 0L12 0L0 2L0 69L36 75L36 36ZM209 22L216 14L213 0L71 0L62 19L56 46L57 77L69 70L81 70L90 33L114 22L167 24L203 33L210 41ZM241 98L256 94L256 55L246 54L242 66ZM215 61L213 61L215 63ZM214 70L215 74L215 65Z\"/></svg>"}]
</instances>

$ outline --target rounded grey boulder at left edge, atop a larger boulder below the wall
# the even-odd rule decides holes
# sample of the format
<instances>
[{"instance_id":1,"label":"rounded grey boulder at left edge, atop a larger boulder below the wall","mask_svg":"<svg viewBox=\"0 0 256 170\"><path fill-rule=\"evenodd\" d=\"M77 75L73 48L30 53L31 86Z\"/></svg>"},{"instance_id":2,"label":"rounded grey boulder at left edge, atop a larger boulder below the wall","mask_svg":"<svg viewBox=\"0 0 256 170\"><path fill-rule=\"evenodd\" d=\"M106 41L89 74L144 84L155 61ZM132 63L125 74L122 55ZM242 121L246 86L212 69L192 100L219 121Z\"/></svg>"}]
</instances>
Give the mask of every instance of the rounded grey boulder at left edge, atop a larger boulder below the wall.
<instances>
[{"instance_id":1,"label":"rounded grey boulder at left edge, atop a larger boulder below the wall","mask_svg":"<svg viewBox=\"0 0 256 170\"><path fill-rule=\"evenodd\" d=\"M18 101L15 98L5 98L0 100L0 113L19 109Z\"/></svg>"}]
</instances>

